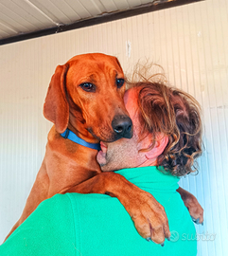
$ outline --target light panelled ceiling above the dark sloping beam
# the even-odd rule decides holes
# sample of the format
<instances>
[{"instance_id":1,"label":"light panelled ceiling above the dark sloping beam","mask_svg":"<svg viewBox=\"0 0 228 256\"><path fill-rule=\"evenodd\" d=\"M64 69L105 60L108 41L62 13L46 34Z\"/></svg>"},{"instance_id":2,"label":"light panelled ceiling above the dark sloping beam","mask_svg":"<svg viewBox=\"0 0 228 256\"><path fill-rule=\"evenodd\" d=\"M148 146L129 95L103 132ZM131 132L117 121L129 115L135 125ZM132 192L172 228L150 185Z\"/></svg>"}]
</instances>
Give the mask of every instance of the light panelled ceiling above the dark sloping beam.
<instances>
[{"instance_id":1,"label":"light panelled ceiling above the dark sloping beam","mask_svg":"<svg viewBox=\"0 0 228 256\"><path fill-rule=\"evenodd\" d=\"M0 0L0 42L121 11L194 1L198 0Z\"/></svg>"}]
</instances>

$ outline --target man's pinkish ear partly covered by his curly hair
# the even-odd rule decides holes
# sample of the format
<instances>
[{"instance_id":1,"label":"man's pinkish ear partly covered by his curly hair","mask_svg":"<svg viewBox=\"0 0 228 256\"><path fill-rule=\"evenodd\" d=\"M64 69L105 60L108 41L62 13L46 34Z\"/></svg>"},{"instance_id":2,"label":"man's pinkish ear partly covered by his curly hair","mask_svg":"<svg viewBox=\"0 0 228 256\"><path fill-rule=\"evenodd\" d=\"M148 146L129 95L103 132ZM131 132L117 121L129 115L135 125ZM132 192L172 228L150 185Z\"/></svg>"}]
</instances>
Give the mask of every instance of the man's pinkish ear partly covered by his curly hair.
<instances>
[{"instance_id":1,"label":"man's pinkish ear partly covered by his curly hair","mask_svg":"<svg viewBox=\"0 0 228 256\"><path fill-rule=\"evenodd\" d=\"M148 159L157 158L161 155L165 148L167 147L168 137L164 135L160 135L157 137L154 147L145 152L145 155Z\"/></svg>"}]
</instances>

